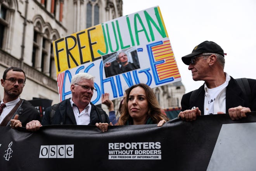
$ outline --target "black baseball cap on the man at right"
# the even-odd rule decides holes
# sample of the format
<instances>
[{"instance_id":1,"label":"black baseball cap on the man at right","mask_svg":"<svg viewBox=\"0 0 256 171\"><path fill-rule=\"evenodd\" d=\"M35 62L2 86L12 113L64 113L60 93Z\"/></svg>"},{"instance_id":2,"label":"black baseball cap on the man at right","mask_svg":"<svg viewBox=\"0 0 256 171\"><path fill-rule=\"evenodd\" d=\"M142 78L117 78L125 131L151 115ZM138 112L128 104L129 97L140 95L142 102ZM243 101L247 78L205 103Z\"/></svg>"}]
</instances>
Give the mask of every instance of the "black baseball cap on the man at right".
<instances>
[{"instance_id":1,"label":"black baseball cap on the man at right","mask_svg":"<svg viewBox=\"0 0 256 171\"><path fill-rule=\"evenodd\" d=\"M183 56L182 61L184 64L189 65L192 57L202 53L220 54L224 57L223 49L217 43L214 43L213 41L204 41L195 46L191 54Z\"/></svg>"}]
</instances>

